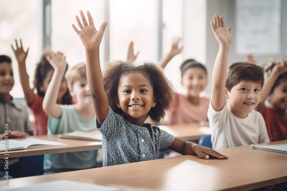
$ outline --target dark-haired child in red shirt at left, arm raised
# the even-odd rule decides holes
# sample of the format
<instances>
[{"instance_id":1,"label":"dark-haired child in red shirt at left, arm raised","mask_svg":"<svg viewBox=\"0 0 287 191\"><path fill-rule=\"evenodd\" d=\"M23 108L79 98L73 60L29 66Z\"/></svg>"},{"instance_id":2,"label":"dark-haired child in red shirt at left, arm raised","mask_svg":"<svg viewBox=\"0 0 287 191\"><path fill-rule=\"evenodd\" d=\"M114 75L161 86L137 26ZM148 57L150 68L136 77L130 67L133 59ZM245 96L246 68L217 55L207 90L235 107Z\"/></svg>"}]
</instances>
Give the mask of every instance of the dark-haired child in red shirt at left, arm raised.
<instances>
[{"instance_id":1,"label":"dark-haired child in red shirt at left, arm raised","mask_svg":"<svg viewBox=\"0 0 287 191\"><path fill-rule=\"evenodd\" d=\"M16 49L13 50L18 61L20 81L25 94L25 99L28 107L30 107L32 114L34 115L33 121L33 135L46 135L47 134L47 122L49 115L47 115L43 108L42 103L44 99L45 92L51 81L54 73L53 67L46 60L46 56L50 54L50 50L44 51L40 62L36 66L35 78L34 78L34 88L37 89L37 94L34 94L33 89L30 88L29 76L26 72L26 57L28 54L24 52L22 42L20 39L21 46L18 47L17 40ZM71 104L71 96L67 87L66 79L63 78L57 99L58 104Z\"/></svg>"}]
</instances>

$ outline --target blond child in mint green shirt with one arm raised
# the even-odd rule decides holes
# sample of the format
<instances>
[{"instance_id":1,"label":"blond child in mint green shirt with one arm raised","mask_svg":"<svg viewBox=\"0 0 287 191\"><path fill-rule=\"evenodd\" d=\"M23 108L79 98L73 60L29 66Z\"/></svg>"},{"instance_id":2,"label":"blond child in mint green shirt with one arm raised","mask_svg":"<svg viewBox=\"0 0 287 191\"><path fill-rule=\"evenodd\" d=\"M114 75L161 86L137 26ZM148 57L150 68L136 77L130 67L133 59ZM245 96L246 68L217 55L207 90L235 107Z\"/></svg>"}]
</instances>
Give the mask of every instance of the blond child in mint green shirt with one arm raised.
<instances>
[{"instance_id":1,"label":"blond child in mint green shirt with one arm raised","mask_svg":"<svg viewBox=\"0 0 287 191\"><path fill-rule=\"evenodd\" d=\"M66 69L65 57L61 53L51 53L47 57L55 69L43 100L43 109L48 115L48 134L96 129L96 116L87 82L86 64L81 63L67 74L71 96L77 99L73 105L58 105L57 95ZM45 174L94 168L97 150L78 151L44 156Z\"/></svg>"}]
</instances>

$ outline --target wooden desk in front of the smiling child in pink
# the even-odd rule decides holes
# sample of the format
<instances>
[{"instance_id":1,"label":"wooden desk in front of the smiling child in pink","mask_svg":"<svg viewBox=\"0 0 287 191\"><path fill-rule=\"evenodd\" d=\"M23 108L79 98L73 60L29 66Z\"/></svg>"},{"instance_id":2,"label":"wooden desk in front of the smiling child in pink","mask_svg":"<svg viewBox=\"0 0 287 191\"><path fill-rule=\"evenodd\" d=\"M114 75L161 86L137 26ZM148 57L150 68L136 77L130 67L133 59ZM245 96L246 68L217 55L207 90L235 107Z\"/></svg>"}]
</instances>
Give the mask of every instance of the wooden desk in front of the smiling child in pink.
<instances>
[{"instance_id":1,"label":"wooden desk in front of the smiling child in pink","mask_svg":"<svg viewBox=\"0 0 287 191\"><path fill-rule=\"evenodd\" d=\"M200 126L199 123L158 125L158 127L185 141L198 140L203 135L211 135L211 129L208 126Z\"/></svg>"}]
</instances>

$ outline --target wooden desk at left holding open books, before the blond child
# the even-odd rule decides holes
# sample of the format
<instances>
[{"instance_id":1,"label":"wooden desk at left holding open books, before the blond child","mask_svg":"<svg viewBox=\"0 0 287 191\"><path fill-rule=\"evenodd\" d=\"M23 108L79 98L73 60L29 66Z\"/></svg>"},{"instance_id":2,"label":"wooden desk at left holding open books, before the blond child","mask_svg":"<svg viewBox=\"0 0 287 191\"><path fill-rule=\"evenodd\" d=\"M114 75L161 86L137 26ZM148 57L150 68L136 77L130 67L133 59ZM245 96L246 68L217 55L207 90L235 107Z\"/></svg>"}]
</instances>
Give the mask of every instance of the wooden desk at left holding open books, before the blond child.
<instances>
[{"instance_id":1,"label":"wooden desk at left holding open books, before the blond child","mask_svg":"<svg viewBox=\"0 0 287 191\"><path fill-rule=\"evenodd\" d=\"M23 156L32 156L32 155L43 155L43 154L52 154L52 153L66 153L73 151L87 151L93 149L101 149L102 142L98 141L84 141L84 140L75 140L75 139L63 139L59 138L58 135L40 135L40 136L31 136L31 138L42 139L46 141L56 141L60 143L65 143L68 146L66 147L44 147L38 149L22 149L14 150L9 152L0 152L0 159L5 156L9 158L13 157L23 157ZM18 140L21 140L21 138ZM4 153L10 153L10 155L4 155Z\"/></svg>"}]
</instances>

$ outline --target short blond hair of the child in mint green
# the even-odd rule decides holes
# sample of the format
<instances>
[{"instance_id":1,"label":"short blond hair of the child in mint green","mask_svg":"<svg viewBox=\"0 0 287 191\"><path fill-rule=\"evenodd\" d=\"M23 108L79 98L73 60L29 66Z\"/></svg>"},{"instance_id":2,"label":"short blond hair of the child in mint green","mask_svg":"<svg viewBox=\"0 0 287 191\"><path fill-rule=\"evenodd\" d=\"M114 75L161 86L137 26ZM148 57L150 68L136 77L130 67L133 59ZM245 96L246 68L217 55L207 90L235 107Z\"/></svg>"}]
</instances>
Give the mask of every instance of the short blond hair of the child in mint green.
<instances>
[{"instance_id":1,"label":"short blond hair of the child in mint green","mask_svg":"<svg viewBox=\"0 0 287 191\"><path fill-rule=\"evenodd\" d=\"M66 79L68 86L71 88L73 88L73 85L77 80L87 80L86 63L82 62L71 68L66 74Z\"/></svg>"}]
</instances>

